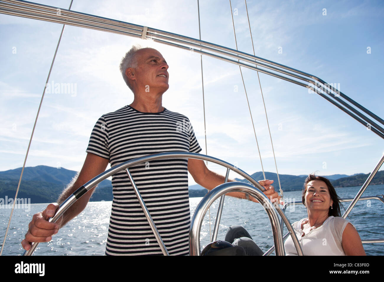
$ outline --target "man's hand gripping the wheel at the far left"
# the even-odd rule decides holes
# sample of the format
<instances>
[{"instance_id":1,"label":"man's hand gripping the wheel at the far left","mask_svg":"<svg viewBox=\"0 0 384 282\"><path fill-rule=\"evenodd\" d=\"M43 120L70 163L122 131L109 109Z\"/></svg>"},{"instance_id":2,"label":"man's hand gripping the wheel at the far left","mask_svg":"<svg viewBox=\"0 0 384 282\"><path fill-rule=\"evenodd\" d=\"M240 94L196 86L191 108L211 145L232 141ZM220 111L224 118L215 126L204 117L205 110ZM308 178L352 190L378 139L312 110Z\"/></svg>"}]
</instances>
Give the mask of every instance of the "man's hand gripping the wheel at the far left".
<instances>
[{"instance_id":1,"label":"man's hand gripping the wheel at the far left","mask_svg":"<svg viewBox=\"0 0 384 282\"><path fill-rule=\"evenodd\" d=\"M31 248L31 242L49 242L52 235L58 233L62 217L56 223L48 222L58 208L58 203L52 203L43 212L33 215L32 221L28 225L28 232L22 241L22 246L26 251Z\"/></svg>"}]
</instances>

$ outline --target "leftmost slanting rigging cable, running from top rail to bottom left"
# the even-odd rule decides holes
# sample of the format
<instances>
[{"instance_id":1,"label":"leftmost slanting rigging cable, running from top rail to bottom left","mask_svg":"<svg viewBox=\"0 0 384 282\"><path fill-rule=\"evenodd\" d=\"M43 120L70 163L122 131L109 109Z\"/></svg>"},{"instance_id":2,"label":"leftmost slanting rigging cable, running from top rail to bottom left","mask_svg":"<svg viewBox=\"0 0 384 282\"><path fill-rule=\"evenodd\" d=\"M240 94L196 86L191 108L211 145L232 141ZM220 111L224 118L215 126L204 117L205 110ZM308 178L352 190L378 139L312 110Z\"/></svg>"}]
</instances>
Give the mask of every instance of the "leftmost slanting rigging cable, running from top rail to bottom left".
<instances>
[{"instance_id":1,"label":"leftmost slanting rigging cable, running from top rail to bottom left","mask_svg":"<svg viewBox=\"0 0 384 282\"><path fill-rule=\"evenodd\" d=\"M71 10L72 2L73 2L73 0L71 0L70 7L68 8L68 10ZM61 33L60 33L60 37L59 37L59 41L57 42L57 46L56 46L56 50L55 50L55 54L53 55L53 60L52 60L52 63L51 63L51 68L50 68L50 70L49 70L48 77L47 77L47 80L46 80L46 82L45 82L45 87L44 87L43 95L41 96L39 109L37 110L36 119L35 119L35 124L33 124L33 129L32 129L31 138L30 138L30 140L29 140L28 148L27 148L27 150L26 150L26 154L25 154L25 159L24 159L24 163L23 163L22 172L21 172L21 174L20 174L20 179L19 179L19 183L18 183L18 185L17 185L17 190L16 190L15 199L13 200L13 206L12 206L11 214L10 214L10 216L9 216L9 220L8 220L8 226L7 226L7 229L5 230L4 241L3 241L3 245L2 245L1 250L0 250L0 256L2 255L2 252L3 252L3 249L4 249L5 240L7 239L7 234L8 234L9 225L10 225L10 223L11 223L11 219L12 219L13 209L15 208L15 203L16 203L17 195L18 195L18 193L19 193L20 183L21 183L21 181L22 181L22 177L23 177L23 172L24 172L24 168L25 168L26 158L28 157L29 148L31 147L31 142L32 142L32 138L33 138L33 133L35 132L37 119L38 119L38 117L39 117L39 113L40 113L40 109L41 109L41 104L43 104L43 99L44 99L44 95L45 95L45 89L46 89L46 87L47 87L47 84L48 84L48 81L49 81L49 78L50 78L50 75L51 75L51 71L52 71L52 68L53 68L53 63L55 62L55 58L56 58L56 54L57 54L57 50L58 50L59 45L60 45L61 37L63 36L64 28L65 28L65 25L63 25L63 28L61 29Z\"/></svg>"}]
</instances>

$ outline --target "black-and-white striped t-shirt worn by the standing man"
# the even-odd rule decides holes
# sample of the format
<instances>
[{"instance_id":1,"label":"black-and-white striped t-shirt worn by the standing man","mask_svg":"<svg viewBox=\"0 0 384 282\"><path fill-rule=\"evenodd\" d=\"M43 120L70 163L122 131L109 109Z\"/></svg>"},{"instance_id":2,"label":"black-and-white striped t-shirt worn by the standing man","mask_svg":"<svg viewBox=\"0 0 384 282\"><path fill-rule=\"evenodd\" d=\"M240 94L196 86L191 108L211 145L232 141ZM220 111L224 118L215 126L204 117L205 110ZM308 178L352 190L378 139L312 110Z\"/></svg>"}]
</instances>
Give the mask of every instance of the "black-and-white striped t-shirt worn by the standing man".
<instances>
[{"instance_id":1,"label":"black-and-white striped t-shirt worn by the standing man","mask_svg":"<svg viewBox=\"0 0 384 282\"><path fill-rule=\"evenodd\" d=\"M107 158L111 167L162 152L201 151L189 119L164 109L143 113L125 106L96 122L86 152ZM129 168L167 251L189 253L187 158L168 158ZM161 249L125 170L112 176L113 203L106 255L161 255Z\"/></svg>"}]
</instances>

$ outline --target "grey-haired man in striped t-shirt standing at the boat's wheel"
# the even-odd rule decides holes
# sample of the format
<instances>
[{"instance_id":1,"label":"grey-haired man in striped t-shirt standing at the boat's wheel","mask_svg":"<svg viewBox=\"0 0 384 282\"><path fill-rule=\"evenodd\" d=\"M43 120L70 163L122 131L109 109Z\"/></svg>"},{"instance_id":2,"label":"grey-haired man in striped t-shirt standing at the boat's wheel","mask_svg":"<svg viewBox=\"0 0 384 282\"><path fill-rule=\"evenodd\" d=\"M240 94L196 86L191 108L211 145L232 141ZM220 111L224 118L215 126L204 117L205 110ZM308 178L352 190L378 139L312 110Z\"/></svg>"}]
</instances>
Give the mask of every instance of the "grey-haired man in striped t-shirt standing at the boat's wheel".
<instances>
[{"instance_id":1,"label":"grey-haired man in striped t-shirt standing at the boat's wheel","mask_svg":"<svg viewBox=\"0 0 384 282\"><path fill-rule=\"evenodd\" d=\"M58 203L104 172L108 162L114 167L153 153L201 151L192 126L180 130L181 122L189 124L188 118L162 106L162 94L169 88L168 68L163 56L155 49L133 47L127 52L120 69L124 81L134 93L134 101L129 106L103 115L96 122L83 168L73 185L63 191ZM224 177L208 170L202 160L184 158L152 161L129 170L169 254L188 254L190 212L187 170L196 183L209 190L222 184ZM260 184L267 189L265 195L278 200L278 194L270 185L272 182L263 180ZM114 200L106 254L162 254L126 173L122 171L113 175L112 184ZM42 213L35 214L22 241L23 248L30 249L30 242L50 241L61 226L83 211L93 190L76 201L58 223L47 221L55 214L58 203L50 204ZM246 198L241 192L228 195ZM256 201L252 197L250 200Z\"/></svg>"}]
</instances>

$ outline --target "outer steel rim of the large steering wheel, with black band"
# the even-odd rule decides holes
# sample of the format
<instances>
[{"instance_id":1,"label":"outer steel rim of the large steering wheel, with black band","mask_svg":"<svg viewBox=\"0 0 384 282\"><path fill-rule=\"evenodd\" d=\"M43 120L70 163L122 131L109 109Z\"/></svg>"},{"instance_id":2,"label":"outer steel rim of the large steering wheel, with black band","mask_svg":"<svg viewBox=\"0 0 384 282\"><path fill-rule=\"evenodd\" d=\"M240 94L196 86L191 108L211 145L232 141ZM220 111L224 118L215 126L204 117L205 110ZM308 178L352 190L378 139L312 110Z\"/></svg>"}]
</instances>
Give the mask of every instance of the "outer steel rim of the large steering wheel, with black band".
<instances>
[{"instance_id":1,"label":"outer steel rim of the large steering wheel, with black band","mask_svg":"<svg viewBox=\"0 0 384 282\"><path fill-rule=\"evenodd\" d=\"M218 165L222 165L223 167L227 168L227 174L228 174L228 169L238 173L239 175L243 176L246 180L248 180L252 185L256 186L260 191L265 191L265 189L256 181L255 179L252 178L252 176L248 175L248 173L244 172L238 167L235 167L234 165L225 162L223 160L220 160L218 158L210 157L207 155L203 154L198 154L198 153L185 153L185 152L167 152L167 153L157 153L153 155L147 155L144 157L140 158L135 158L133 160L130 160L128 162L121 163L120 165L117 165L113 168L110 168L109 170L106 170L105 172L99 174L98 176L94 177L93 179L89 180L87 183L85 183L83 186L81 186L78 190L76 190L73 195L68 197L67 200L65 200L59 207L59 209L56 211L55 216L49 219L50 222L56 222L58 218L60 218L61 215L82 195L84 195L87 191L89 191L91 188L94 186L98 185L101 181L104 179L108 178L109 176L112 176L122 170L125 170L133 165L139 164L139 163L145 163L145 162L150 162L152 160L159 160L159 159L164 159L164 158L194 158L197 160L205 160L209 161L212 163L216 163ZM253 194L251 194L253 195ZM292 234L295 234L293 232L293 228L288 220L288 218L285 216L283 211L279 208L276 207L277 212L280 214L281 218L283 219L283 222L286 224L287 228L289 231L291 231ZM278 224L278 221L277 221ZM279 226L280 229L280 226ZM296 236L292 237L293 242L295 243L296 249L298 249L298 252L302 254L301 252L301 247L298 242L298 239ZM33 254L35 251L36 247L38 245L38 242L32 243L32 247L29 251L24 252L24 256L30 256Z\"/></svg>"}]
</instances>

